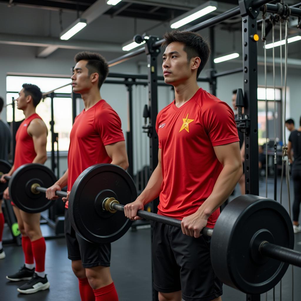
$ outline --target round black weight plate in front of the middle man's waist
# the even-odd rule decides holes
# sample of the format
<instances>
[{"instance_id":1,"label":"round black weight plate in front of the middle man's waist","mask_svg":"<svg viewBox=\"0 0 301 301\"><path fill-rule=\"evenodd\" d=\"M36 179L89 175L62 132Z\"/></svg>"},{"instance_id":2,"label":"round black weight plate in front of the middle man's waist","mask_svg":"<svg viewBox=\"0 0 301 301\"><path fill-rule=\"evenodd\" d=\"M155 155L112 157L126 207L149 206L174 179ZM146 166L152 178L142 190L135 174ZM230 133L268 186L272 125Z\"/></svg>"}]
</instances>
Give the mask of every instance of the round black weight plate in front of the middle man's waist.
<instances>
[{"instance_id":1,"label":"round black weight plate in front of the middle man's waist","mask_svg":"<svg viewBox=\"0 0 301 301\"><path fill-rule=\"evenodd\" d=\"M137 198L130 175L113 164L88 167L73 184L68 205L70 222L80 236L92 243L113 242L132 224L123 212L108 213L101 209L103 200L110 196L123 205Z\"/></svg>"}]
</instances>

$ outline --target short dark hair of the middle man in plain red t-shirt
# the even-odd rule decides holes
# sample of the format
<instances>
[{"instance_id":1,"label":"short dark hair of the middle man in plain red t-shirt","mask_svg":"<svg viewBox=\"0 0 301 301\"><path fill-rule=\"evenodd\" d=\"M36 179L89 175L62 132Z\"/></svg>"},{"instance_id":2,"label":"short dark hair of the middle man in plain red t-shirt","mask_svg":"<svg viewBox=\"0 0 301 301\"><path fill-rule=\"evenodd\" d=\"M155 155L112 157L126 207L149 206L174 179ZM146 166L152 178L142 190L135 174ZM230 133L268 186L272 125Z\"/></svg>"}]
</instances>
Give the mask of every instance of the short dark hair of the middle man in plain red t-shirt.
<instances>
[{"instance_id":1,"label":"short dark hair of the middle man in plain red t-shirt","mask_svg":"<svg viewBox=\"0 0 301 301\"><path fill-rule=\"evenodd\" d=\"M82 60L88 61L86 67L89 70L89 75L94 72L98 73L98 88L100 88L109 74L109 66L106 59L99 53L82 51L76 54L74 60L76 63Z\"/></svg>"}]
</instances>

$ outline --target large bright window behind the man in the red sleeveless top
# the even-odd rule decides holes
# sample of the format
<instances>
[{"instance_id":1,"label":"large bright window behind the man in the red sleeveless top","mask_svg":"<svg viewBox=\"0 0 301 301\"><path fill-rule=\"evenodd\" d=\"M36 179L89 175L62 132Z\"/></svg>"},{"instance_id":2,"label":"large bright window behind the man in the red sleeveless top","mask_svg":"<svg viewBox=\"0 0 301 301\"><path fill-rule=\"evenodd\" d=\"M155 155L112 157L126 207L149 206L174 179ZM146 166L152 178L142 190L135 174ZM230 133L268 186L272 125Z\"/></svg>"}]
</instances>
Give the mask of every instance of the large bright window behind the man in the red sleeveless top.
<instances>
[{"instance_id":1,"label":"large bright window behind the man in the red sleeveless top","mask_svg":"<svg viewBox=\"0 0 301 301\"><path fill-rule=\"evenodd\" d=\"M7 76L6 77L6 103L11 104L12 97L18 98L18 92L22 89L23 83L30 83L37 85L42 93L48 92L56 87L61 87L71 82L70 78L58 78L58 77L42 77L42 76ZM57 89L54 93L60 93L60 97L54 97L54 132L58 133L58 146L60 151L68 151L69 148L69 136L72 128L72 100L71 85L64 88ZM11 122L13 119L12 106L7 107L7 121ZM50 132L50 120L51 120L51 98L45 98L42 100L37 108L36 112L42 117L48 128L47 136L47 151L51 151L51 132ZM17 109L15 103L15 120L20 121L24 119L22 110Z\"/></svg>"}]
</instances>

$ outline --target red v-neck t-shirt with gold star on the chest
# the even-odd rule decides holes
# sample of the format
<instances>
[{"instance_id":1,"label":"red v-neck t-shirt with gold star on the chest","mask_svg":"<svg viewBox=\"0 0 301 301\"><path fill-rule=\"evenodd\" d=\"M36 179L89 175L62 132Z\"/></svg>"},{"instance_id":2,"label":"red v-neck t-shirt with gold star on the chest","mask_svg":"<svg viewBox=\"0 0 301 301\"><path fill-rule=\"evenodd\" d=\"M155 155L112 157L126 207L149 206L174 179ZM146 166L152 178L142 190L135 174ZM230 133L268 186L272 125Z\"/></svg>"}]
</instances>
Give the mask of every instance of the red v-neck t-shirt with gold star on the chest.
<instances>
[{"instance_id":1,"label":"red v-neck t-shirt with gold star on the chest","mask_svg":"<svg viewBox=\"0 0 301 301\"><path fill-rule=\"evenodd\" d=\"M183 219L197 211L212 193L222 171L214 146L239 141L234 113L200 88L181 107L174 101L157 116L163 182L158 213ZM213 228L217 209L208 219Z\"/></svg>"}]
</instances>

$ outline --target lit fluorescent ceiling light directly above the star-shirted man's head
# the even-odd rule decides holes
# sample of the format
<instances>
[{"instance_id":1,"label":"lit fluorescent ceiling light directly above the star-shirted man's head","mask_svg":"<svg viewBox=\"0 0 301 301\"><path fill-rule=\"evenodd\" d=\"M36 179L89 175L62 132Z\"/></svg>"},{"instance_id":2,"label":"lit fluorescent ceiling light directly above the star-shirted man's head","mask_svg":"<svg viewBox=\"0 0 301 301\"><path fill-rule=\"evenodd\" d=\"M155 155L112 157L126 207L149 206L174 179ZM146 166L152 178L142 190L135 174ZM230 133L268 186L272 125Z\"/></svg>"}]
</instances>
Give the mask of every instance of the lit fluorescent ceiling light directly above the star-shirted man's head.
<instances>
[{"instance_id":1,"label":"lit fluorescent ceiling light directly above the star-shirted man's head","mask_svg":"<svg viewBox=\"0 0 301 301\"><path fill-rule=\"evenodd\" d=\"M185 14L173 19L170 21L171 28L179 28L187 23L190 23L206 14L211 13L217 9L217 2L215 1L208 1L191 11L188 11Z\"/></svg>"}]
</instances>

